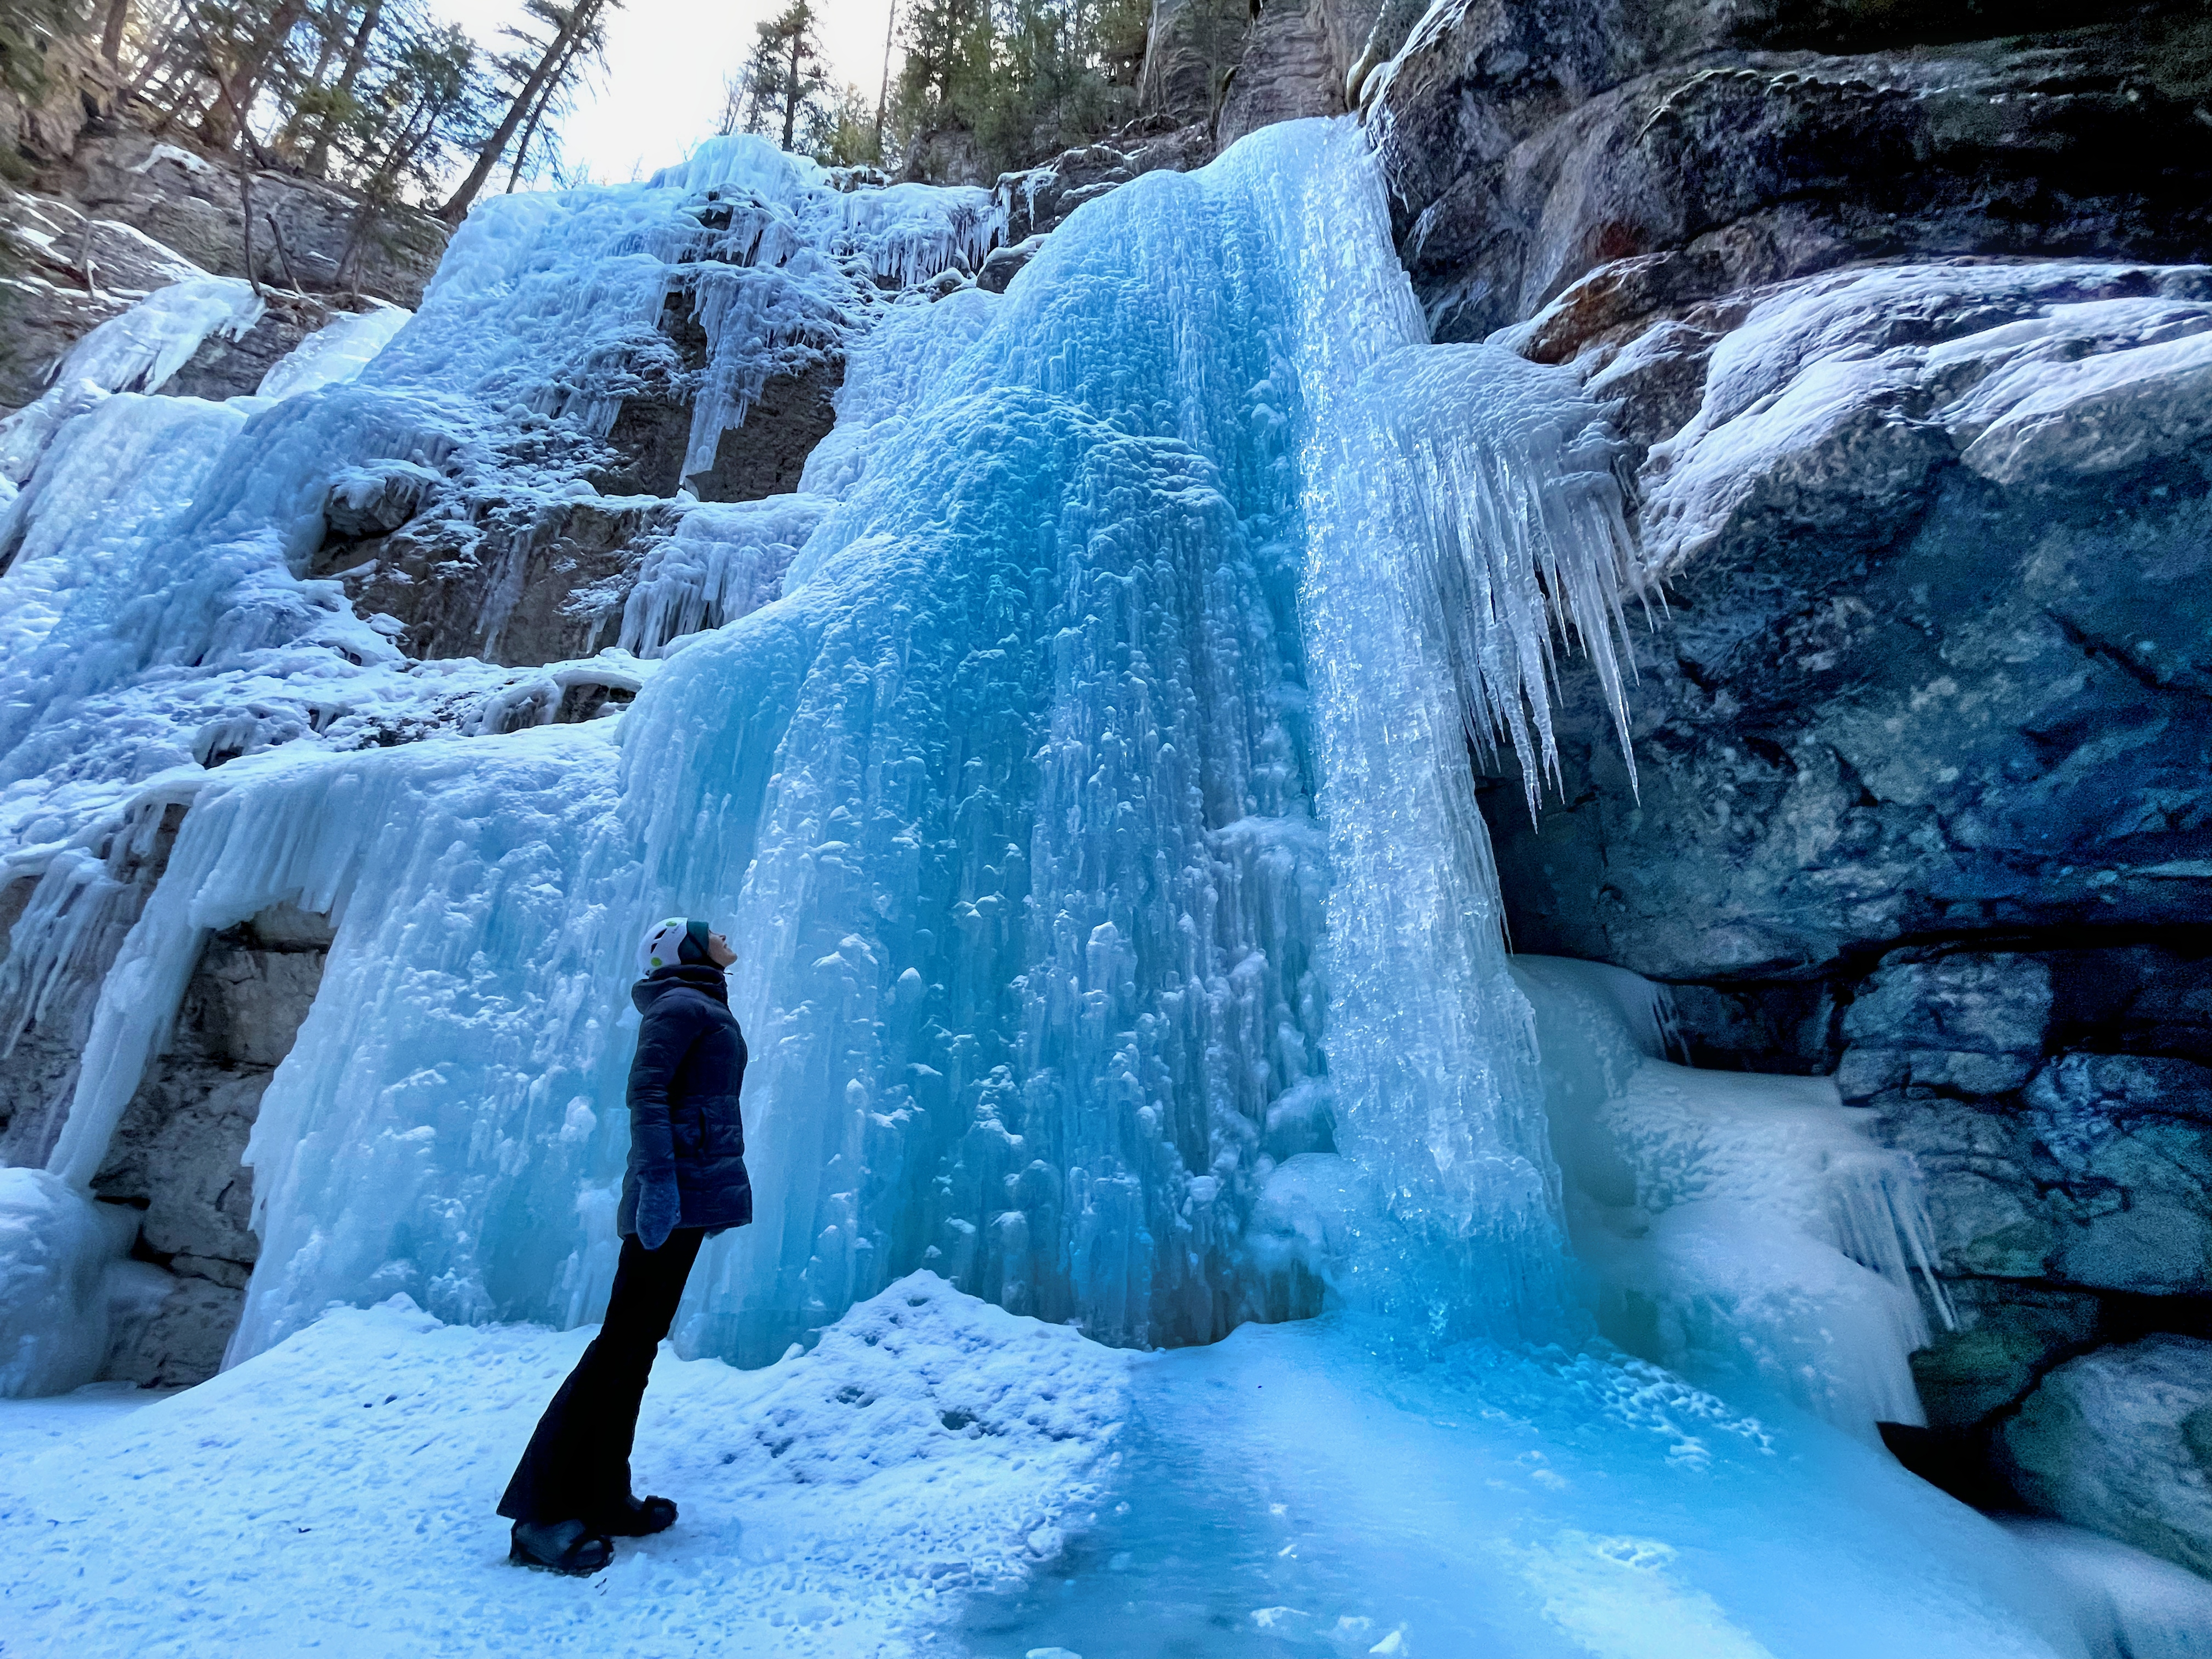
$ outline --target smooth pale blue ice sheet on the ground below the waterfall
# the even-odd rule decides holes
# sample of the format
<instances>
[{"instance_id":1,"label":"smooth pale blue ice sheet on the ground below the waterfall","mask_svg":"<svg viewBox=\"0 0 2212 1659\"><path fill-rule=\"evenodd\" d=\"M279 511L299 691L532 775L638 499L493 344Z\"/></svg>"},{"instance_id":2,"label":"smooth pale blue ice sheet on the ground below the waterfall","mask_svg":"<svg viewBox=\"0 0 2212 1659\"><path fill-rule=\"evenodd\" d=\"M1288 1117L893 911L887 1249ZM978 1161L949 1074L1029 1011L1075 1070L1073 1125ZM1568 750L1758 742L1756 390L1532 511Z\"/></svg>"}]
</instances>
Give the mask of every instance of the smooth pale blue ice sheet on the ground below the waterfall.
<instances>
[{"instance_id":1,"label":"smooth pale blue ice sheet on the ground below the waterfall","mask_svg":"<svg viewBox=\"0 0 2212 1659\"><path fill-rule=\"evenodd\" d=\"M1097 1526L967 1613L1084 1659L2081 1655L1989 1520L1639 1363L1398 1323L1139 1356Z\"/></svg>"}]
</instances>

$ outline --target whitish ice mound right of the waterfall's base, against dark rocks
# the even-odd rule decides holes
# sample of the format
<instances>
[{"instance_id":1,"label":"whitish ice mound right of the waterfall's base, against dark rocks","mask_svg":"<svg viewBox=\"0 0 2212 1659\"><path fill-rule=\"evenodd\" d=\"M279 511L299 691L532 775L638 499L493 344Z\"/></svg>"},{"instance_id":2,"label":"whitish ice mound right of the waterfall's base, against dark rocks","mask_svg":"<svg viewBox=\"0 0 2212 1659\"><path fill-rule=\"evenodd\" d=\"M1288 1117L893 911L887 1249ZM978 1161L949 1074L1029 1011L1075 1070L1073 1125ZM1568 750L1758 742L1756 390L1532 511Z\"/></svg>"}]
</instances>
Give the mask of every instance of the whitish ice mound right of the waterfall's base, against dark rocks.
<instances>
[{"instance_id":1,"label":"whitish ice mound right of the waterfall's base, against dark rocks","mask_svg":"<svg viewBox=\"0 0 2212 1659\"><path fill-rule=\"evenodd\" d=\"M1520 956L1513 975L1599 1329L1854 1433L1924 1422L1909 1356L1922 1298L1947 1325L1951 1305L1911 1157L1876 1146L1829 1077L1663 1060L1663 1002L1626 969Z\"/></svg>"}]
</instances>

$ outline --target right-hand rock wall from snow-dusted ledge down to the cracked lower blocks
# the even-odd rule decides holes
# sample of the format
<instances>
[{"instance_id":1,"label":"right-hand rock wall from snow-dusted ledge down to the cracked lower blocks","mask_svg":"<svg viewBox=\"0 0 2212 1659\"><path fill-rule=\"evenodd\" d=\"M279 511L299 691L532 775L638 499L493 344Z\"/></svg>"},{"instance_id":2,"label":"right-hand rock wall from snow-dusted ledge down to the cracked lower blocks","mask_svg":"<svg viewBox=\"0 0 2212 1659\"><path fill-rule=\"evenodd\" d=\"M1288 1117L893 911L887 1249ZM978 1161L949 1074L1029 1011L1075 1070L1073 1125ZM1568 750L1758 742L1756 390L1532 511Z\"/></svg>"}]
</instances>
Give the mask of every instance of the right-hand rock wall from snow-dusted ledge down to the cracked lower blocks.
<instances>
[{"instance_id":1,"label":"right-hand rock wall from snow-dusted ledge down to the cracked lower blocks","mask_svg":"<svg viewBox=\"0 0 2212 1659\"><path fill-rule=\"evenodd\" d=\"M1962 1491L2004 1495L2053 1365L2212 1292L2212 447L2172 341L2117 358L2181 376L2159 445L2066 400L2119 372L2088 341L2035 358L2033 440L1962 411L2037 285L2201 327L2197 276L1900 268L1621 321L1668 263L1517 336L1624 398L1666 617L1632 628L1635 783L1577 668L1537 821L1517 776L1484 794L1513 940L1672 982L1694 1060L1834 1071L1916 1155L1962 1305L1918 1376Z\"/></svg>"}]
</instances>

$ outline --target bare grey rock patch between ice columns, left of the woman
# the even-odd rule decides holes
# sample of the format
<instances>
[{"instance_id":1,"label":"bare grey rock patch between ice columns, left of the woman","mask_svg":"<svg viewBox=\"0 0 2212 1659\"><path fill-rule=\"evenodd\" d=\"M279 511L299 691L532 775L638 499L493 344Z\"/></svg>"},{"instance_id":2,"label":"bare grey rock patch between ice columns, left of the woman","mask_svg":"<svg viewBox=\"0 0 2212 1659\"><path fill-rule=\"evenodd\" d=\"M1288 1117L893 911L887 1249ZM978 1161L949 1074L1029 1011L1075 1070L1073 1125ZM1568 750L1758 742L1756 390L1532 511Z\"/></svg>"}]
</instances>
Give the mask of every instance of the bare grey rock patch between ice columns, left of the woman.
<instances>
[{"instance_id":1,"label":"bare grey rock patch between ice columns, left of the woman","mask_svg":"<svg viewBox=\"0 0 2212 1659\"><path fill-rule=\"evenodd\" d=\"M270 1075L314 1002L330 925L276 907L208 942L164 1064L131 1099L93 1190L144 1210L135 1254L175 1283L108 1356L106 1376L179 1387L221 1367L246 1281L252 1170L239 1159Z\"/></svg>"}]
</instances>

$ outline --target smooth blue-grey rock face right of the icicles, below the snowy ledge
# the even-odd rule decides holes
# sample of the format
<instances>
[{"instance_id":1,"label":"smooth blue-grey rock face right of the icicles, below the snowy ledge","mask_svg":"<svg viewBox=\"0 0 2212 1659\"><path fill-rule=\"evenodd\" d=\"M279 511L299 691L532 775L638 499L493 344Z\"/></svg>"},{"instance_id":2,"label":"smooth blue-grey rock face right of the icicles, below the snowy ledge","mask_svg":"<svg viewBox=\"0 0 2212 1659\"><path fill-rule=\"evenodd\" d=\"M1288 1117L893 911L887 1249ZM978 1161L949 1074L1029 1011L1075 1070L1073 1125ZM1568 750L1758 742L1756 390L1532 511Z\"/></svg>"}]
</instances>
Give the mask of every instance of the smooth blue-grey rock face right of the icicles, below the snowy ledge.
<instances>
[{"instance_id":1,"label":"smooth blue-grey rock face right of the icicles, below the snowy ledge","mask_svg":"<svg viewBox=\"0 0 2212 1659\"><path fill-rule=\"evenodd\" d=\"M2203 487L2126 515L1936 476L1918 504L1876 553L1745 538L1668 584L1635 783L1577 726L1535 834L1500 796L1524 949L1790 982L1902 940L2205 916Z\"/></svg>"}]
</instances>

